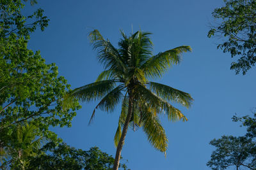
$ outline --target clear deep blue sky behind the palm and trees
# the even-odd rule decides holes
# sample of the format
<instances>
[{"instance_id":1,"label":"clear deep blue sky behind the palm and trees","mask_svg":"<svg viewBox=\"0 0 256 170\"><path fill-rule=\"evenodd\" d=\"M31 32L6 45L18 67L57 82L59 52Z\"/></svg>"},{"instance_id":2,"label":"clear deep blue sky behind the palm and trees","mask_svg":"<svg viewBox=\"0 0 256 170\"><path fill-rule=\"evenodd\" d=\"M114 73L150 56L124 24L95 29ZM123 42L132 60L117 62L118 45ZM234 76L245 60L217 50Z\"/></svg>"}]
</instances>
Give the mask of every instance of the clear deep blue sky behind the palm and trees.
<instances>
[{"instance_id":1,"label":"clear deep blue sky behind the palm and trees","mask_svg":"<svg viewBox=\"0 0 256 170\"><path fill-rule=\"evenodd\" d=\"M168 122L161 118L170 141L167 157L148 143L139 129L128 131L122 157L132 170L201 170L214 148L213 138L224 134L241 135L244 129L231 121L232 116L250 114L255 104L255 68L245 76L230 71L230 55L216 49L221 39L207 38L211 12L223 5L222 0L123 1L38 0L29 10L43 8L51 20L44 32L32 34L29 48L40 50L47 63L55 62L61 76L72 88L92 83L102 71L87 34L98 29L117 45L120 29L152 32L154 53L180 45L189 45L179 66L173 66L158 81L189 92L195 99L187 110L174 104L188 117L188 122ZM31 9L30 9L31 8ZM29 11L26 11L29 13ZM236 58L237 59L237 58ZM100 150L115 155L113 143L120 107L111 114L97 111L92 125L88 121L97 103L83 103L71 128L54 131L71 146Z\"/></svg>"}]
</instances>

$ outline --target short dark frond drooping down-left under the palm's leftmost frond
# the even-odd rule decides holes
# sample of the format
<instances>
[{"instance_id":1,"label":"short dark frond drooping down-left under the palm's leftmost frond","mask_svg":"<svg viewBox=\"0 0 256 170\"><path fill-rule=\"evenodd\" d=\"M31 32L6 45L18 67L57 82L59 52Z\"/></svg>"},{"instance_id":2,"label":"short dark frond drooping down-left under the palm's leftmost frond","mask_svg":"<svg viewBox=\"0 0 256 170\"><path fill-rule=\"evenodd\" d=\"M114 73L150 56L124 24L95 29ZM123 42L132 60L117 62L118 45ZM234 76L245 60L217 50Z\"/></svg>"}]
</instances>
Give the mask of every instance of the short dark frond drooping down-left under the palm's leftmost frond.
<instances>
[{"instance_id":1,"label":"short dark frond drooping down-left under the palm's leftmost frond","mask_svg":"<svg viewBox=\"0 0 256 170\"><path fill-rule=\"evenodd\" d=\"M97 106L93 110L92 117L90 118L89 124L92 122L97 108L99 108L102 111L107 111L107 112L111 112L115 109L116 104L119 103L120 98L122 97L122 89L124 89L124 85L119 85L118 87L111 90L111 92L109 92L106 96L104 96L101 99L100 103L97 104Z\"/></svg>"}]
</instances>

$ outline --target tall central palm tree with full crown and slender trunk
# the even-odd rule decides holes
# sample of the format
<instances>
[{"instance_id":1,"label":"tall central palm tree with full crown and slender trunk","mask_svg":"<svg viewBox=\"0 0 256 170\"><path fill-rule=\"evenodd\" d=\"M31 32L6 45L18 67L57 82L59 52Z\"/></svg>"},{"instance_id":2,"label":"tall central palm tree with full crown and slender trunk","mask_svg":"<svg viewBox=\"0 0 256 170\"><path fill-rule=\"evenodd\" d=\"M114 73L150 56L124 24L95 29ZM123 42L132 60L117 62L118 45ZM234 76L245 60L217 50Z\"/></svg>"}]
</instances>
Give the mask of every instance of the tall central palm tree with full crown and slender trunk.
<instances>
[{"instance_id":1,"label":"tall central palm tree with full crown and slender trunk","mask_svg":"<svg viewBox=\"0 0 256 170\"><path fill-rule=\"evenodd\" d=\"M115 134L116 156L113 169L118 169L121 150L128 127L142 127L148 141L159 151L166 152L168 139L158 118L165 114L169 120L187 118L168 101L177 102L189 108L193 98L186 92L167 85L149 81L161 77L173 64L179 64L180 54L191 51L189 46L179 46L166 52L152 55L152 41L149 32L135 32L122 39L115 48L99 31L90 32L89 38L97 58L104 65L94 83L74 89L70 94L80 101L100 100L95 107L102 111L113 111L122 101L122 111ZM90 122L95 116L93 110Z\"/></svg>"}]
</instances>

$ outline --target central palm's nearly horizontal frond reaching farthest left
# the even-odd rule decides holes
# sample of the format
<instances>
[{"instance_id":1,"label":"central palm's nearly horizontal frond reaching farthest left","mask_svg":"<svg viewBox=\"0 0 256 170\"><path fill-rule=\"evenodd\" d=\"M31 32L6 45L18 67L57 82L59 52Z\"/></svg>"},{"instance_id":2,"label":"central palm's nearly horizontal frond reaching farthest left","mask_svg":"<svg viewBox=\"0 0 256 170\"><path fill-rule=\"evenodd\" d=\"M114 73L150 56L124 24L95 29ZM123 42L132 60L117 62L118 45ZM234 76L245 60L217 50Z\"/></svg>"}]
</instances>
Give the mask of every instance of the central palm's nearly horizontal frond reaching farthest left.
<instances>
[{"instance_id":1,"label":"central palm's nearly horizontal frond reaching farthest left","mask_svg":"<svg viewBox=\"0 0 256 170\"><path fill-rule=\"evenodd\" d=\"M103 80L90 83L72 90L68 96L76 97L79 101L93 101L104 97L108 92L115 88L116 80Z\"/></svg>"}]
</instances>

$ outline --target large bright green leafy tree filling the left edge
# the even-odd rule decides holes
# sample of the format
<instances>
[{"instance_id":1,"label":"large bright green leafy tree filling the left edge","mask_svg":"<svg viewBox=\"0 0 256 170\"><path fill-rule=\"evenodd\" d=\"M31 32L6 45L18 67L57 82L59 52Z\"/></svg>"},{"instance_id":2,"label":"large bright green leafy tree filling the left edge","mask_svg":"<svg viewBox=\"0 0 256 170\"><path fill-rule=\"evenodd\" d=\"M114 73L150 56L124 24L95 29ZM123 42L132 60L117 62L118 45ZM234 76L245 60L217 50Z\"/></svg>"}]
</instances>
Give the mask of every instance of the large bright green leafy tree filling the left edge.
<instances>
[{"instance_id":1,"label":"large bright green leafy tree filling the left edge","mask_svg":"<svg viewBox=\"0 0 256 170\"><path fill-rule=\"evenodd\" d=\"M22 8L24 4L19 0L0 1L0 166L6 163L15 166L17 152L33 146L18 137L26 130L26 134L33 131L32 136L25 136L27 139L44 136L56 143L61 141L49 127L70 127L81 107L75 100L63 109L61 99L70 85L63 76L58 76L54 63L45 64L40 52L27 48L29 34L37 27L44 31L48 24L44 11L38 9L26 17L21 13ZM19 160L24 160L25 155Z\"/></svg>"}]
</instances>

